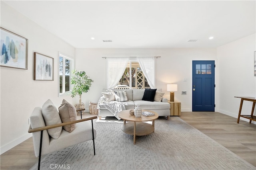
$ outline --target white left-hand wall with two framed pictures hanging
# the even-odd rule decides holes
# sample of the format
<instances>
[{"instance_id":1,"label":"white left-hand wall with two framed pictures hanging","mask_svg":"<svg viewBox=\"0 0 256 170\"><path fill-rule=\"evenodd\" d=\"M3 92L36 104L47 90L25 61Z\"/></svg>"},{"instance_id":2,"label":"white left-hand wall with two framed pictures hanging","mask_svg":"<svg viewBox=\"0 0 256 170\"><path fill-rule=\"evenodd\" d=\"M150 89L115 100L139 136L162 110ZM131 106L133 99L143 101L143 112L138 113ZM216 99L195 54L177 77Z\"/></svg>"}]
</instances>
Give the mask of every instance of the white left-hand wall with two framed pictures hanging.
<instances>
[{"instance_id":1,"label":"white left-hand wall with two framed pictures hanging","mask_svg":"<svg viewBox=\"0 0 256 170\"><path fill-rule=\"evenodd\" d=\"M2 1L1 27L28 39L28 69L0 67L2 154L31 136L28 118L34 107L47 99L57 107L62 99L73 102L70 96L58 97L58 51L75 57L75 49ZM54 58L54 81L33 80L34 52Z\"/></svg>"}]
</instances>

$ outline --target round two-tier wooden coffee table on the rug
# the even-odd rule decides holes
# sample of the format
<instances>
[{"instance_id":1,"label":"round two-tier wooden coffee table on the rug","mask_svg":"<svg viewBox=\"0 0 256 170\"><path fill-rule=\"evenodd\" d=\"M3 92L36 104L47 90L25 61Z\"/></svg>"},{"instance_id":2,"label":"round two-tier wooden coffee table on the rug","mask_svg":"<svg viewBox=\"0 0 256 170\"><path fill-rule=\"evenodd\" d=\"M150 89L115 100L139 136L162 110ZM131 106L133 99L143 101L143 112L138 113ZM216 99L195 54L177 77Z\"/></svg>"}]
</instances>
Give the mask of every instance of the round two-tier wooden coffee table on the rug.
<instances>
[{"instance_id":1,"label":"round two-tier wooden coffee table on the rug","mask_svg":"<svg viewBox=\"0 0 256 170\"><path fill-rule=\"evenodd\" d=\"M130 109L120 111L118 113L118 117L124 120L124 124L122 125L121 129L124 133L133 135L133 144L135 144L136 136L149 135L155 131L155 119L158 118L158 113L150 110L142 110L142 112L143 111L149 111L155 113L155 115L141 115L141 117L135 117L135 115L130 115ZM152 121L152 125L143 121Z\"/></svg>"}]
</instances>

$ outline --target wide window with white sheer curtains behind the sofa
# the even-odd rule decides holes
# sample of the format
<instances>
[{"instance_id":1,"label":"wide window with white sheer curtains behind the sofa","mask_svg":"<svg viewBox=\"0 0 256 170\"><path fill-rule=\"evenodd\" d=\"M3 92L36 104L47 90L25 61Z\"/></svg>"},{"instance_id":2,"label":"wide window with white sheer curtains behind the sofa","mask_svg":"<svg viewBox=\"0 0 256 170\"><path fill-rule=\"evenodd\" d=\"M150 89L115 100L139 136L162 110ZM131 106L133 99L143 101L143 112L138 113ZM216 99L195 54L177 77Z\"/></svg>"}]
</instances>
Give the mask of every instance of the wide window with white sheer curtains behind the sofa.
<instances>
[{"instance_id":1,"label":"wide window with white sheer curtains behind the sofa","mask_svg":"<svg viewBox=\"0 0 256 170\"><path fill-rule=\"evenodd\" d=\"M107 88L155 86L155 57L109 57L106 63Z\"/></svg>"}]
</instances>

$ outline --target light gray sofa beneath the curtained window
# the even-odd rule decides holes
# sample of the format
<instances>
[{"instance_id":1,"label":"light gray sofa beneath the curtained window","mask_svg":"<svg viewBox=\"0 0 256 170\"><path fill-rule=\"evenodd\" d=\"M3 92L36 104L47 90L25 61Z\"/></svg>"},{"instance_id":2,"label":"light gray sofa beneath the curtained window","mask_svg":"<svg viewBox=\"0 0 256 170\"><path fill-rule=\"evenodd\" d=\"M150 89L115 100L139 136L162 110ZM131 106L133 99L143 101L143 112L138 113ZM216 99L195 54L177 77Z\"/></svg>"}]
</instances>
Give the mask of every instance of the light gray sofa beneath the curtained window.
<instances>
[{"instance_id":1,"label":"light gray sofa beneath the curtained window","mask_svg":"<svg viewBox=\"0 0 256 170\"><path fill-rule=\"evenodd\" d=\"M128 101L122 102L125 105L125 109L134 109L136 105L140 105L142 109L151 110L158 113L159 116L166 116L167 119L170 119L170 104L166 98L162 98L161 102L150 102L142 100L145 89L103 89L103 92L111 92L111 91L125 91ZM161 89L157 89L158 92L162 92ZM102 116L114 116L112 112L110 112L104 105L106 101L104 96L102 96L98 103L99 109L99 119Z\"/></svg>"}]
</instances>

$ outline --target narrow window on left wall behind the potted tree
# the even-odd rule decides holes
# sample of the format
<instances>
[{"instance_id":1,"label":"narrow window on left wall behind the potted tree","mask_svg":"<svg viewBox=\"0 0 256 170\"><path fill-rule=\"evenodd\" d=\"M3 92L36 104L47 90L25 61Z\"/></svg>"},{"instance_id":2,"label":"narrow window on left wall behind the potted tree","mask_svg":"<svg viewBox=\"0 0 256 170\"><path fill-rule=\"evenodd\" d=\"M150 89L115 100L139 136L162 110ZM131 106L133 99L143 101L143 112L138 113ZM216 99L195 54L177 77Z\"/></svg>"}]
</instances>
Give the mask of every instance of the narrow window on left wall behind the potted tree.
<instances>
[{"instance_id":1,"label":"narrow window on left wall behind the potted tree","mask_svg":"<svg viewBox=\"0 0 256 170\"><path fill-rule=\"evenodd\" d=\"M74 68L74 62L70 57L59 53L59 94L70 92L70 76Z\"/></svg>"}]
</instances>

